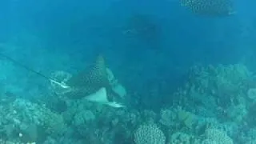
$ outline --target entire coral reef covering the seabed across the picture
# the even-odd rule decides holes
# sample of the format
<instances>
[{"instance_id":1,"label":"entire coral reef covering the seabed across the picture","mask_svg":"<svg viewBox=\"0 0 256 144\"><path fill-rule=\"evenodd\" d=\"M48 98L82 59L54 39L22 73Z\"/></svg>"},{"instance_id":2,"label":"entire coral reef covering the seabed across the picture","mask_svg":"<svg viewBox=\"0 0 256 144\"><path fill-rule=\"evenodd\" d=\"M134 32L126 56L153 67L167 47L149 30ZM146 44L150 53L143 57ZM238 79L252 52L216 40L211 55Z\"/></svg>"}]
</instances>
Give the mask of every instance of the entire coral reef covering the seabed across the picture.
<instances>
[{"instance_id":1,"label":"entire coral reef covering the seabed across the picture","mask_svg":"<svg viewBox=\"0 0 256 144\"><path fill-rule=\"evenodd\" d=\"M119 84L107 69L110 86ZM58 71L66 82L72 75ZM72 99L51 83L46 99L32 102L3 94L0 99L2 143L209 144L254 143L256 134L253 74L241 64L194 66L184 86L160 111L115 109ZM122 86L122 85L120 85ZM126 90L116 89L126 98ZM64 102L59 110L54 102ZM61 105L63 107L64 105Z\"/></svg>"}]
</instances>

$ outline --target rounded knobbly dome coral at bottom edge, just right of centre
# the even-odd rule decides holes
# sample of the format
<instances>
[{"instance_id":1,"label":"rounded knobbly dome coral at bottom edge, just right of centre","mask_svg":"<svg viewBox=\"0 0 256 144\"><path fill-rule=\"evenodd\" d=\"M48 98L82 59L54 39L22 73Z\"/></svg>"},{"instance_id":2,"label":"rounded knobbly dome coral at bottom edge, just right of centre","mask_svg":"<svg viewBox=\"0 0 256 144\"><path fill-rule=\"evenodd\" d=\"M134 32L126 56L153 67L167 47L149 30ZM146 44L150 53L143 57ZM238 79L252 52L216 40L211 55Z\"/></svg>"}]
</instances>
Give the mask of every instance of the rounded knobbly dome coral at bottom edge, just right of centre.
<instances>
[{"instance_id":1,"label":"rounded knobbly dome coral at bottom edge, just right of centre","mask_svg":"<svg viewBox=\"0 0 256 144\"><path fill-rule=\"evenodd\" d=\"M135 144L165 144L166 137L154 124L139 126L134 134Z\"/></svg>"}]
</instances>

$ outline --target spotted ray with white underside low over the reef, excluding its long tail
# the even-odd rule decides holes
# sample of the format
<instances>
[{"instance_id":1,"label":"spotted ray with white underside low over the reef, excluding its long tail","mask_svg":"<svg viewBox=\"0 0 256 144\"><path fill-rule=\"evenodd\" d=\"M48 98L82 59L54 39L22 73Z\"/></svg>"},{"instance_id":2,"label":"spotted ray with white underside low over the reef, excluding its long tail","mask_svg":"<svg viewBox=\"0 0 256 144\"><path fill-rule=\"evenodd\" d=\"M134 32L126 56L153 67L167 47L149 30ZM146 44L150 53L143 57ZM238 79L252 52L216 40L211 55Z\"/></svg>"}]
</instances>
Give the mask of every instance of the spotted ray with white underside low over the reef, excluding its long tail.
<instances>
[{"instance_id":1,"label":"spotted ray with white underside low over the reef, excluding its long tail","mask_svg":"<svg viewBox=\"0 0 256 144\"><path fill-rule=\"evenodd\" d=\"M122 107L114 102L114 97L120 97L114 92L108 74L104 58L100 55L96 62L92 63L67 82L71 90L66 94L69 98L86 98L92 102L99 102L114 107Z\"/></svg>"}]
</instances>

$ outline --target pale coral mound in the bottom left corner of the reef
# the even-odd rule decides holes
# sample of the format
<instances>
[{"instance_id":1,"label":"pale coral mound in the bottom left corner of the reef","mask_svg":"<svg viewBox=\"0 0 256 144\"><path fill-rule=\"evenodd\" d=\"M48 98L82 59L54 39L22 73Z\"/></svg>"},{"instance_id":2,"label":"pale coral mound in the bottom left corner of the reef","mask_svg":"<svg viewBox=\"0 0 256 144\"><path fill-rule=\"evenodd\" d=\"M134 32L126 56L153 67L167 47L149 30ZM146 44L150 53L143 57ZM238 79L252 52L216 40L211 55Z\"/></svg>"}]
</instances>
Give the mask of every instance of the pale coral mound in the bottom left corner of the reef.
<instances>
[{"instance_id":1,"label":"pale coral mound in the bottom left corner of the reef","mask_svg":"<svg viewBox=\"0 0 256 144\"><path fill-rule=\"evenodd\" d=\"M5 111L0 111L1 124L5 126L3 132L8 134L2 138L18 138L23 142L38 142L39 139L42 140L47 135L57 137L66 131L66 123L62 119L62 115L24 99L18 98L7 105ZM17 133L20 133L20 136Z\"/></svg>"}]
</instances>

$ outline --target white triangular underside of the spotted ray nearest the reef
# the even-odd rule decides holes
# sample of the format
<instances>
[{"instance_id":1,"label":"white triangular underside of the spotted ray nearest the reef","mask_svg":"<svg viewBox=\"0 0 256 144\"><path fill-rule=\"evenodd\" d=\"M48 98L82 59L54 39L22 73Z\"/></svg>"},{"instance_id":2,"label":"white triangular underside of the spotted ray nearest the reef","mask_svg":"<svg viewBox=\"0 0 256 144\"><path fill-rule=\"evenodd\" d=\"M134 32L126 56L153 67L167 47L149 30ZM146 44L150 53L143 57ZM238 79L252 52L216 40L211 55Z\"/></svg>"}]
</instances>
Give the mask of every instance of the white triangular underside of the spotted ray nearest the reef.
<instances>
[{"instance_id":1,"label":"white triangular underside of the spotted ray nearest the reef","mask_svg":"<svg viewBox=\"0 0 256 144\"><path fill-rule=\"evenodd\" d=\"M86 96L86 99L90 102L98 102L98 103L102 103L102 104L112 106L112 107L117 107L117 108L118 107L124 107L122 104L120 104L118 102L110 102L108 100L106 87L102 87L98 91L96 91L95 93Z\"/></svg>"}]
</instances>

